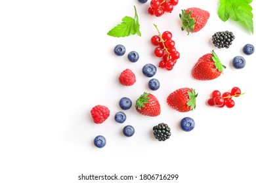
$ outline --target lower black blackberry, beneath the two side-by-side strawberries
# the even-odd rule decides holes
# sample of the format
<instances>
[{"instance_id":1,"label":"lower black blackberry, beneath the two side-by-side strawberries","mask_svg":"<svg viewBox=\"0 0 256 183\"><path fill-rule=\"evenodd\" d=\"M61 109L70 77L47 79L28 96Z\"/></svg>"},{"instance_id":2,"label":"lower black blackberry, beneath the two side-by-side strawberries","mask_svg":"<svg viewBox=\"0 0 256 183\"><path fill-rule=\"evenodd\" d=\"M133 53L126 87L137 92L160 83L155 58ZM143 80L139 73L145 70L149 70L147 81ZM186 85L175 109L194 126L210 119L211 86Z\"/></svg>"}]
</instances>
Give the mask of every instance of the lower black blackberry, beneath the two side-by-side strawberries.
<instances>
[{"instance_id":1,"label":"lower black blackberry, beneath the two side-by-side strawberries","mask_svg":"<svg viewBox=\"0 0 256 183\"><path fill-rule=\"evenodd\" d=\"M161 123L153 127L154 137L158 141L165 141L171 136L171 129L167 124Z\"/></svg>"}]
</instances>

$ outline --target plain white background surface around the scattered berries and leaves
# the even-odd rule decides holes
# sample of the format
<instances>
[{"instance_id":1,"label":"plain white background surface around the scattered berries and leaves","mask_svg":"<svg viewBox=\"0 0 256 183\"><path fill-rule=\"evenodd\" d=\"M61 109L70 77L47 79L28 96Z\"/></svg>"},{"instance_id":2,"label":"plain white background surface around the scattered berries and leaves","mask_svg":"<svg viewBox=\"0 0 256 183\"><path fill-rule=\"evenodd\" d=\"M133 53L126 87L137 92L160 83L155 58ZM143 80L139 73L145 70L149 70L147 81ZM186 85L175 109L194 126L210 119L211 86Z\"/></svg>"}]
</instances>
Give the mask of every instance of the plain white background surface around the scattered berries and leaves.
<instances>
[{"instance_id":1,"label":"plain white background surface around the scattered berries and leaves","mask_svg":"<svg viewBox=\"0 0 256 183\"><path fill-rule=\"evenodd\" d=\"M173 182L255 182L255 55L242 53L244 44L255 44L252 35L236 22L222 22L218 1L180 1L171 14L160 18L147 14L150 1L1 1L0 3L0 182L90 182L83 175L178 174ZM137 35L116 38L106 33L124 16L140 22ZM255 7L255 2L251 3ZM198 33L181 31L181 9L200 7L211 14ZM256 14L255 10L253 13ZM124 124L114 122L121 110L118 101L129 97L135 104L150 92L141 73L146 63L158 65L150 38L173 33L181 58L173 71L158 69L154 78L160 89L152 92L161 104L157 117L142 116L135 108L125 111ZM211 43L217 31L232 31L232 46L218 49ZM117 57L113 49L123 44L127 52ZM256 44L255 44L256 46ZM211 81L194 80L190 71L198 58L215 50L224 75ZM140 59L131 63L127 54L135 50ZM232 68L234 56L244 56L244 69ZM124 69L137 76L133 86L119 84ZM238 86L245 95L234 108L208 107L213 90L230 91ZM196 110L181 113L168 107L166 98L178 88L196 89ZM106 105L111 114L96 125L90 110ZM179 121L190 116L196 127L184 132ZM158 142L152 127L165 122L171 138ZM121 133L125 125L135 127L133 137ZM104 135L107 144L96 148L93 139ZM102 181L103 182L103 181ZM112 181L114 182L114 181ZM116 181L121 182L121 180ZM152 182L152 181L148 181ZM155 182L155 181L154 181ZM158 180L156 182L169 182Z\"/></svg>"}]
</instances>

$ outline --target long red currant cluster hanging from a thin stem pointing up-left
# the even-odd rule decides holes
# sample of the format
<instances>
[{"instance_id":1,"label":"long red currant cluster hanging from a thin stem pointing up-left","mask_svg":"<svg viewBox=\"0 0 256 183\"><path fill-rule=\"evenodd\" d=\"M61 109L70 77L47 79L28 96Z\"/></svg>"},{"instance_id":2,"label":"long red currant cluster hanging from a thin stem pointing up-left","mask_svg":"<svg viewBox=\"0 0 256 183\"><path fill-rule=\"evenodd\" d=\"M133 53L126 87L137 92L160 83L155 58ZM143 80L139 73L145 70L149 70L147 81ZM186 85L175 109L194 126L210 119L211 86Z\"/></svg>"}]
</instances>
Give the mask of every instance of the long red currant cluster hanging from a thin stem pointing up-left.
<instances>
[{"instance_id":1,"label":"long red currant cluster hanging from a thin stem pointing up-left","mask_svg":"<svg viewBox=\"0 0 256 183\"><path fill-rule=\"evenodd\" d=\"M170 31L160 33L157 25L154 24L154 26L158 30L159 35L152 36L150 42L154 46L157 46L154 50L154 55L161 58L158 66L171 71L177 62L177 59L180 58L180 53L175 48L175 41L172 40L172 33Z\"/></svg>"}]
</instances>

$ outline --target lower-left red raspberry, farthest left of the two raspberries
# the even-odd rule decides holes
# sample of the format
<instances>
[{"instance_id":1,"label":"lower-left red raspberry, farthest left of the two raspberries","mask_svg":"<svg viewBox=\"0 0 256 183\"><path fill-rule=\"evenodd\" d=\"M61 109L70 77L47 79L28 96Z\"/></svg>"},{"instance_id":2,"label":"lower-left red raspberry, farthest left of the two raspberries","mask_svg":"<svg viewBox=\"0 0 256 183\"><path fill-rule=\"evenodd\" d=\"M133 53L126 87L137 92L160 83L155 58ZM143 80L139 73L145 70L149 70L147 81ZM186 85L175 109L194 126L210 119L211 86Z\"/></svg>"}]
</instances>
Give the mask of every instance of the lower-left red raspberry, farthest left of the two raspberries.
<instances>
[{"instance_id":1,"label":"lower-left red raspberry, farthest left of the two raspberries","mask_svg":"<svg viewBox=\"0 0 256 183\"><path fill-rule=\"evenodd\" d=\"M91 109L91 116L95 124L102 124L110 116L110 110L104 105L96 105Z\"/></svg>"}]
</instances>

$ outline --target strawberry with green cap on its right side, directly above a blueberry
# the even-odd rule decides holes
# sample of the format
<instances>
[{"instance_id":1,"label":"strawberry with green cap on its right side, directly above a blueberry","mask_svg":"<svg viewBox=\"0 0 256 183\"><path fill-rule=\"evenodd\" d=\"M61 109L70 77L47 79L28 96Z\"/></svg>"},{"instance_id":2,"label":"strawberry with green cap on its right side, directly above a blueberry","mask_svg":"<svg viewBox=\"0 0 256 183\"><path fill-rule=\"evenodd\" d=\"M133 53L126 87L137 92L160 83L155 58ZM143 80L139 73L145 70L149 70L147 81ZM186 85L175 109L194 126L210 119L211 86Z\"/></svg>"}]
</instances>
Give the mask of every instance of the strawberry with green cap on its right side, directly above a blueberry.
<instances>
[{"instance_id":1,"label":"strawberry with green cap on its right side, directly above a blueberry","mask_svg":"<svg viewBox=\"0 0 256 183\"><path fill-rule=\"evenodd\" d=\"M188 112L196 108L197 96L194 89L180 88L169 94L167 104L179 112Z\"/></svg>"}]
</instances>

